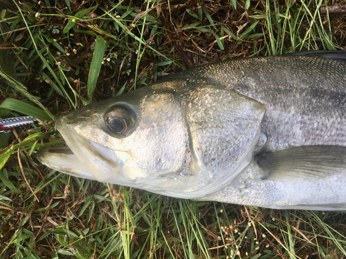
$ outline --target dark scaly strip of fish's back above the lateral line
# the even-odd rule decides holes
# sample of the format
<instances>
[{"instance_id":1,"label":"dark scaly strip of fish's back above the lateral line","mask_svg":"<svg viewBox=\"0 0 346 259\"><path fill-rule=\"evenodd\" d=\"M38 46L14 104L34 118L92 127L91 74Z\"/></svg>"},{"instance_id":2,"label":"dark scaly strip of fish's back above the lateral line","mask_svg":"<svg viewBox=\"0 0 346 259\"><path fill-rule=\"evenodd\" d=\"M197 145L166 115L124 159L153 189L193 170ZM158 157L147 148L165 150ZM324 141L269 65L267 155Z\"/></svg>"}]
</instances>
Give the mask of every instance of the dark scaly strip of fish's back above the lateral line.
<instances>
[{"instance_id":1,"label":"dark scaly strip of fish's back above the lateral line","mask_svg":"<svg viewBox=\"0 0 346 259\"><path fill-rule=\"evenodd\" d=\"M170 77L164 80L169 81ZM225 88L237 91L315 88L346 93L345 62L304 56L220 61L186 70L179 74L179 78L183 77L213 79Z\"/></svg>"}]
</instances>

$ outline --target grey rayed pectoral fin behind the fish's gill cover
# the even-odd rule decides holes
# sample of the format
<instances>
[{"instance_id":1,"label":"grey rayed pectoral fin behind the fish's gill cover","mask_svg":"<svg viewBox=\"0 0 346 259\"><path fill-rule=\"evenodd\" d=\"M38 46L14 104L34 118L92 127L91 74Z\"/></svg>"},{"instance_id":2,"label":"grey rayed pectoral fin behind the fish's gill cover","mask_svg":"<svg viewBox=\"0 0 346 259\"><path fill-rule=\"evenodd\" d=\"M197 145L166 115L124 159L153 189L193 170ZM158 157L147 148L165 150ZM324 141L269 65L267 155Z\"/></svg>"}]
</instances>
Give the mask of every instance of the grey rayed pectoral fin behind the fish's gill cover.
<instances>
[{"instance_id":1,"label":"grey rayed pectoral fin behind the fish's gill cover","mask_svg":"<svg viewBox=\"0 0 346 259\"><path fill-rule=\"evenodd\" d=\"M345 173L346 147L300 146L255 157L264 173L262 180L322 180Z\"/></svg>"}]
</instances>

